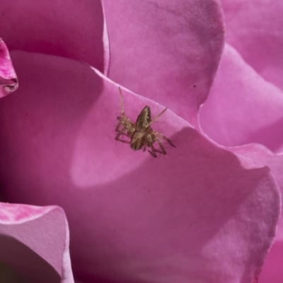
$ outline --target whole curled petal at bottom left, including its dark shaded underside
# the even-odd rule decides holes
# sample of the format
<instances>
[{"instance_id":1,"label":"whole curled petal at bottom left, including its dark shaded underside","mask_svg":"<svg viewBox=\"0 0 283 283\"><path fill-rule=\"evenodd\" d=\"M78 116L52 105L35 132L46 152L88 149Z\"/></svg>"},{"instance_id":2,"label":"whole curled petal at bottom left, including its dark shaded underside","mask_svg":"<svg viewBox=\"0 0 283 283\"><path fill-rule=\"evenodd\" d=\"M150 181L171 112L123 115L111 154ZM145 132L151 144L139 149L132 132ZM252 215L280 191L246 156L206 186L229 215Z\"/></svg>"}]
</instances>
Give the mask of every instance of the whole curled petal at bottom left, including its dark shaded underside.
<instances>
[{"instance_id":1,"label":"whole curled petal at bottom left, including its dark shaded underside","mask_svg":"<svg viewBox=\"0 0 283 283\"><path fill-rule=\"evenodd\" d=\"M69 229L59 207L0 202L0 246L0 262L22 282L74 282Z\"/></svg>"}]
</instances>

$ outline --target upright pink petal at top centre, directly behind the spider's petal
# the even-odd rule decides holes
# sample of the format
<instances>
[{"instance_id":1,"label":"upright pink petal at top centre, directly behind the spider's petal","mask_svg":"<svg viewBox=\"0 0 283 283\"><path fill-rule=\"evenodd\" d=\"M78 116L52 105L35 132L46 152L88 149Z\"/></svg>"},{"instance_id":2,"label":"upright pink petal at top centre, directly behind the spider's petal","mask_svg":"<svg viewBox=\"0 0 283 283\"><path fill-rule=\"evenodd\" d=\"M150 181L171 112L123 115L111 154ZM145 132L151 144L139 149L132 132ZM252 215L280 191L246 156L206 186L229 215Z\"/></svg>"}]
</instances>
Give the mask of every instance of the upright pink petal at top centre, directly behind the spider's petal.
<instances>
[{"instance_id":1,"label":"upright pink petal at top centre, directly behind the spider's petal","mask_svg":"<svg viewBox=\"0 0 283 283\"><path fill-rule=\"evenodd\" d=\"M109 77L197 125L219 65L224 22L218 0L103 1Z\"/></svg>"}]
</instances>

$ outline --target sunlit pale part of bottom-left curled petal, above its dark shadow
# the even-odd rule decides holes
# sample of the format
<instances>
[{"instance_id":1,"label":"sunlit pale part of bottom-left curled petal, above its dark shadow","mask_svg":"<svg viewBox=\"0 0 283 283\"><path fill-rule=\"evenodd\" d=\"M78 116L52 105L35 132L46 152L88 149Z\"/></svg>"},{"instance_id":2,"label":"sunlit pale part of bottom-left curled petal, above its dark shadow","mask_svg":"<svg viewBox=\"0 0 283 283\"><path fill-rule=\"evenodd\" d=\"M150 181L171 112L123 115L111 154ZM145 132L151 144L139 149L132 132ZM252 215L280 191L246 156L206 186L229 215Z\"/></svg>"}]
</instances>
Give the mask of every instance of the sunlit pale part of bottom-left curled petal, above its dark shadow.
<instances>
[{"instance_id":1,"label":"sunlit pale part of bottom-left curled petal, above its dark shadow","mask_svg":"<svg viewBox=\"0 0 283 283\"><path fill-rule=\"evenodd\" d=\"M69 226L61 207L0 202L0 234L15 238L48 262L61 283L74 283Z\"/></svg>"}]
</instances>

